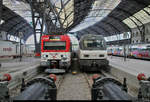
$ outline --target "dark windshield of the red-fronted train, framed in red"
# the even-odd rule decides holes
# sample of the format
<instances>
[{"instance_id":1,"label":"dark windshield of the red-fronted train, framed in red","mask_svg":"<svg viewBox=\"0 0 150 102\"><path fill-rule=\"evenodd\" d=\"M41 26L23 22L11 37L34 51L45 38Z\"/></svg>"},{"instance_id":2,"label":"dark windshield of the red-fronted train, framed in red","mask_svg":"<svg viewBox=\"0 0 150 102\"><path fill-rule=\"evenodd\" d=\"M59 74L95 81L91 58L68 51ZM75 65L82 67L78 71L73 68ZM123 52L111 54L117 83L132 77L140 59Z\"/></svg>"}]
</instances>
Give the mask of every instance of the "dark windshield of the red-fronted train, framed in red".
<instances>
[{"instance_id":1,"label":"dark windshield of the red-fronted train, framed in red","mask_svg":"<svg viewBox=\"0 0 150 102\"><path fill-rule=\"evenodd\" d=\"M44 42L44 50L65 50L66 42L65 41L51 41Z\"/></svg>"}]
</instances>

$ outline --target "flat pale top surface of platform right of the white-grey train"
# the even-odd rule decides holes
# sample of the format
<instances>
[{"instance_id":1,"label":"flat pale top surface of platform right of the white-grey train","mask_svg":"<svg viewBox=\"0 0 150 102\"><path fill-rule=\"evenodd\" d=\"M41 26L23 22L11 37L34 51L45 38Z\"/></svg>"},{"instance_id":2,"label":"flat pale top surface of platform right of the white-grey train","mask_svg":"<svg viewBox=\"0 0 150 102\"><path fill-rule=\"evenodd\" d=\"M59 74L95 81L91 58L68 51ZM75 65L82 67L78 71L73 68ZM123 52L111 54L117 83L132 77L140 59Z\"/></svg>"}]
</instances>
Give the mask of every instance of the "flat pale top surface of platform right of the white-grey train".
<instances>
[{"instance_id":1,"label":"flat pale top surface of platform right of the white-grey train","mask_svg":"<svg viewBox=\"0 0 150 102\"><path fill-rule=\"evenodd\" d=\"M127 58L124 61L123 57L108 57L110 65L115 66L123 71L126 71L133 75L144 73L150 76L150 61L140 59Z\"/></svg>"}]
</instances>

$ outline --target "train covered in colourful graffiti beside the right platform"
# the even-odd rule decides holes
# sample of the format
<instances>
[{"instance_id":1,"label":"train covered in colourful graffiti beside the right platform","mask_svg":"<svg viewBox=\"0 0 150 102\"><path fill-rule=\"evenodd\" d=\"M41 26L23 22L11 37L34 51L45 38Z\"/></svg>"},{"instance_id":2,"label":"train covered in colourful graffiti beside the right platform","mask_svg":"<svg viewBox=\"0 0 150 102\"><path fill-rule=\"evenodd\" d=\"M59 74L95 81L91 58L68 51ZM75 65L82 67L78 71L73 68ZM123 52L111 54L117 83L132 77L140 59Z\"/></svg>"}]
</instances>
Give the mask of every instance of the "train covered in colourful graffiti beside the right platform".
<instances>
[{"instance_id":1,"label":"train covered in colourful graffiti beside the right platform","mask_svg":"<svg viewBox=\"0 0 150 102\"><path fill-rule=\"evenodd\" d=\"M126 56L131 58L150 59L150 44L111 45L107 47L107 54Z\"/></svg>"}]
</instances>

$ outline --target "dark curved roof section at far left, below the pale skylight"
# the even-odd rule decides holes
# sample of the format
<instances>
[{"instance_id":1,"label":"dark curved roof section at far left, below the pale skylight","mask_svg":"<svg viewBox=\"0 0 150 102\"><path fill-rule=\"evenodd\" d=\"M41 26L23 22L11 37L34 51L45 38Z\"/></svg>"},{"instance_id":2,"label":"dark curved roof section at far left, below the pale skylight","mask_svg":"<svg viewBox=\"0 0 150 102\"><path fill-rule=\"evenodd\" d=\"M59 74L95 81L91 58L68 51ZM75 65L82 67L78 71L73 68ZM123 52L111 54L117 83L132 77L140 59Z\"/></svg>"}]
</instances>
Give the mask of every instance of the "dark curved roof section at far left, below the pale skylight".
<instances>
[{"instance_id":1,"label":"dark curved roof section at far left, below the pale skylight","mask_svg":"<svg viewBox=\"0 0 150 102\"><path fill-rule=\"evenodd\" d=\"M1 24L1 29L3 31L6 31L9 35L14 36L19 36L19 32L22 32L24 35L24 40L33 34L33 28L23 17L4 5L2 12L2 20L4 22Z\"/></svg>"}]
</instances>

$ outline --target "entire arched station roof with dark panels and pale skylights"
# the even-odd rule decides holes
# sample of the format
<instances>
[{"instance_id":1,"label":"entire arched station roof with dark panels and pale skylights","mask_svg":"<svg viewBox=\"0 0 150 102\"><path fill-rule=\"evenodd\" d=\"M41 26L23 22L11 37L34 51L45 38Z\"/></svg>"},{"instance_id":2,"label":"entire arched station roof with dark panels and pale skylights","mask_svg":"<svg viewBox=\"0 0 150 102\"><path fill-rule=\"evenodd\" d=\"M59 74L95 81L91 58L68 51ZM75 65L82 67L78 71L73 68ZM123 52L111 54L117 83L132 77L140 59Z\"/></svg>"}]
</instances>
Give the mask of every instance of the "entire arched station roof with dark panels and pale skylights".
<instances>
[{"instance_id":1,"label":"entire arched station roof with dark panels and pale skylights","mask_svg":"<svg viewBox=\"0 0 150 102\"><path fill-rule=\"evenodd\" d=\"M30 0L3 1L2 19L5 20L1 25L3 30L16 36L17 32L23 32L26 40L33 34L33 28L29 24L32 23ZM68 32L77 25L79 28L84 26L82 30L77 31L79 35L94 33L110 36L131 31L131 28L143 26L150 21L150 0L51 0L50 2L65 31ZM40 8L37 7L36 10ZM52 17L53 15L50 15L47 18Z\"/></svg>"}]
</instances>

